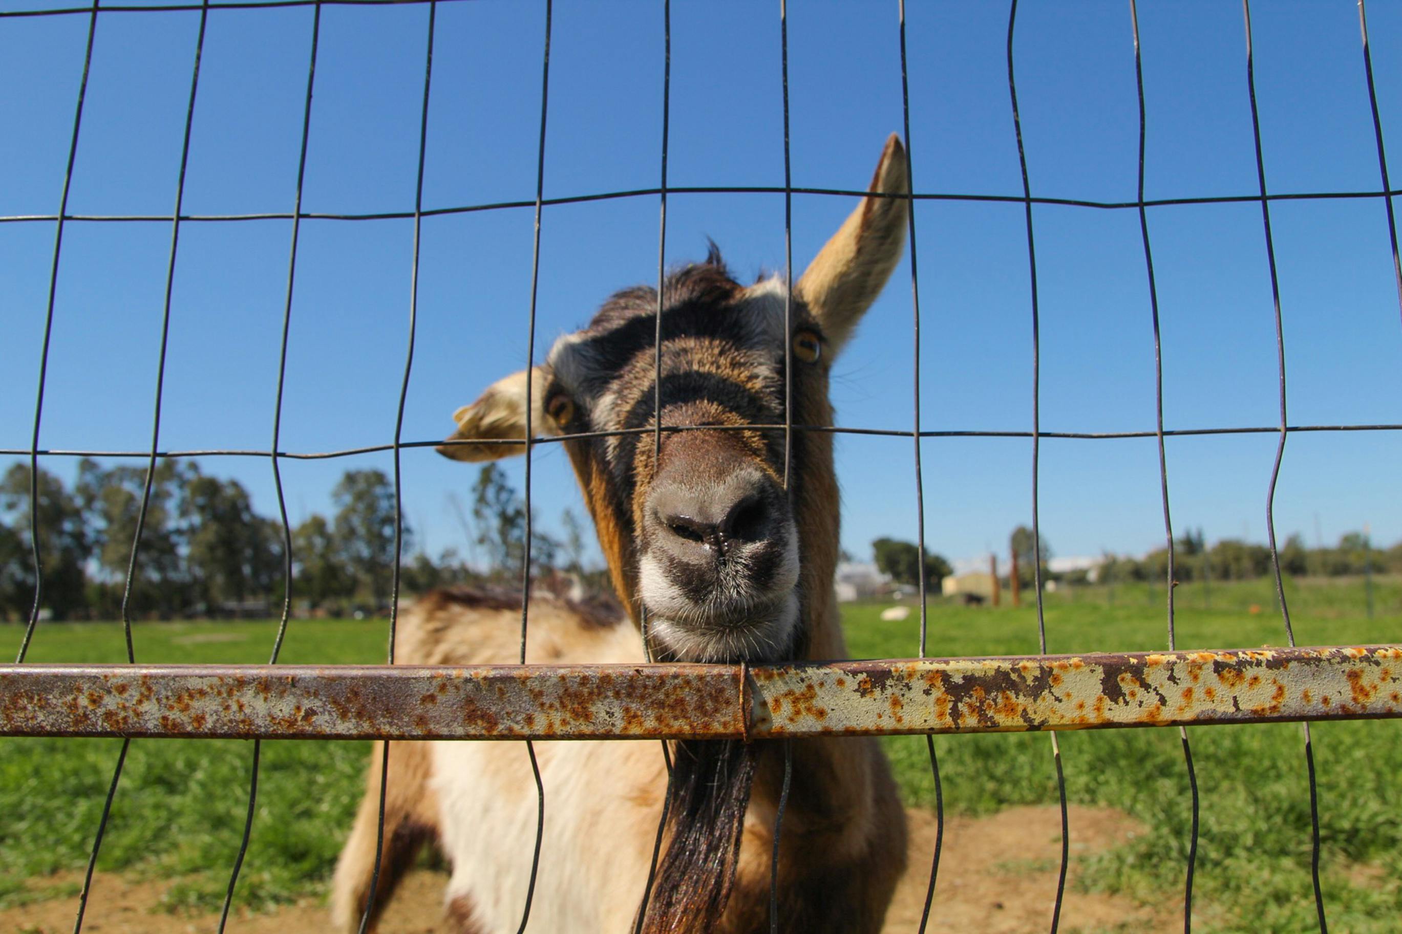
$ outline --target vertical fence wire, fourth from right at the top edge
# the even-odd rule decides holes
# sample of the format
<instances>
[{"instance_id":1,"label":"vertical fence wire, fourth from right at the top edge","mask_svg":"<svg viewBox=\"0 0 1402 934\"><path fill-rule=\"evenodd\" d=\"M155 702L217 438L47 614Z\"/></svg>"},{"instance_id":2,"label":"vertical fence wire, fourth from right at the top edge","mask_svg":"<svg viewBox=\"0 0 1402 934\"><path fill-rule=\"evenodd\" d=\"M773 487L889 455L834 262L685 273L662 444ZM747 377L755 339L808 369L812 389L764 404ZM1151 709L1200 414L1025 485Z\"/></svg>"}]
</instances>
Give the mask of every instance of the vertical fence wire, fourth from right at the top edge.
<instances>
[{"instance_id":1,"label":"vertical fence wire, fourth from right at the top edge","mask_svg":"<svg viewBox=\"0 0 1402 934\"><path fill-rule=\"evenodd\" d=\"M1047 654L1047 626L1042 599L1042 529L1037 522L1039 456L1042 452L1042 346L1037 308L1037 251L1032 235L1032 185L1028 181L1028 155L1022 144L1022 119L1018 115L1018 80L1014 71L1012 38L1018 24L1018 0L1008 10L1008 97L1012 102L1012 129L1018 139L1018 165L1022 169L1022 209L1028 228L1028 281L1032 293L1032 583L1037 595L1037 646ZM1066 809L1066 774L1061 770L1061 744L1052 737L1052 763L1056 766L1057 797L1061 804L1061 868L1057 872L1056 902L1052 906L1052 934L1061 923L1061 900L1066 896L1066 870L1071 856L1070 819Z\"/></svg>"}]
</instances>

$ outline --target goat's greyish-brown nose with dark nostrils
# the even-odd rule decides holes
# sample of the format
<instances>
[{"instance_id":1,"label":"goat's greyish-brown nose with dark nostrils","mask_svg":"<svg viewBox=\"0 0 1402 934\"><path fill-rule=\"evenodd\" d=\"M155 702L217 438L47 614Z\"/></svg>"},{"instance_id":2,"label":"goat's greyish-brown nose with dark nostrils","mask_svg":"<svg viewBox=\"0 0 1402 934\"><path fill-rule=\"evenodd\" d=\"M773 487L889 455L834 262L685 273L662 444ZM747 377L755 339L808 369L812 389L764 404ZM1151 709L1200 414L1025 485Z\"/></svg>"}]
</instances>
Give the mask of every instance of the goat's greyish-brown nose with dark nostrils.
<instances>
[{"instance_id":1,"label":"goat's greyish-brown nose with dark nostrils","mask_svg":"<svg viewBox=\"0 0 1402 934\"><path fill-rule=\"evenodd\" d=\"M715 559L737 543L773 534L773 507L761 478L733 476L719 485L665 485L653 490L652 511L666 545L683 555L697 546Z\"/></svg>"}]
</instances>

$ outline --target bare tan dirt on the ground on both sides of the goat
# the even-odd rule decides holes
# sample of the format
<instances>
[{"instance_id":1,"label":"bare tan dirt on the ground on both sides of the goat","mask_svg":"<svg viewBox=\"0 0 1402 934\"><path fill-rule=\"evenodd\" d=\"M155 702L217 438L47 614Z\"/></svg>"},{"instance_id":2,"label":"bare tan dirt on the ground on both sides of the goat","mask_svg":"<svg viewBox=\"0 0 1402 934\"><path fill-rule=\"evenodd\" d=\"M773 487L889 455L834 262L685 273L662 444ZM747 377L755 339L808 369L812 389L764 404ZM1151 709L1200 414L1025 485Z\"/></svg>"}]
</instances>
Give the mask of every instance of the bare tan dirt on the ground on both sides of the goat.
<instances>
[{"instance_id":1,"label":"bare tan dirt on the ground on both sides of the goat","mask_svg":"<svg viewBox=\"0 0 1402 934\"><path fill-rule=\"evenodd\" d=\"M1112 850L1143 833L1127 815L1110 808L1071 808L1071 854ZM910 871L896 891L887 931L914 931L920 926L935 849L935 818L910 812ZM1014 934L1050 926L1061 854L1061 815L1056 808L1012 808L990 818L949 818L945 822L939 884L928 931L980 931ZM1074 931L1178 931L1182 919L1172 905L1164 910L1143 907L1115 895L1074 891L1078 865L1073 858L1061 909L1061 930ZM0 912L0 930L22 934L59 934L73 930L77 899L72 896L77 874L38 881L32 888L59 886L63 898L34 902ZM409 872L379 927L380 934L446 934L442 923L443 886L447 877L430 870ZM168 879L137 881L100 872L93 885L83 930L91 934L206 934L217 928L217 916L172 916L160 912ZM1171 899L1169 899L1171 900ZM237 934L289 934L327 930L327 909L318 899L292 905L271 914L240 914L229 923Z\"/></svg>"}]
</instances>

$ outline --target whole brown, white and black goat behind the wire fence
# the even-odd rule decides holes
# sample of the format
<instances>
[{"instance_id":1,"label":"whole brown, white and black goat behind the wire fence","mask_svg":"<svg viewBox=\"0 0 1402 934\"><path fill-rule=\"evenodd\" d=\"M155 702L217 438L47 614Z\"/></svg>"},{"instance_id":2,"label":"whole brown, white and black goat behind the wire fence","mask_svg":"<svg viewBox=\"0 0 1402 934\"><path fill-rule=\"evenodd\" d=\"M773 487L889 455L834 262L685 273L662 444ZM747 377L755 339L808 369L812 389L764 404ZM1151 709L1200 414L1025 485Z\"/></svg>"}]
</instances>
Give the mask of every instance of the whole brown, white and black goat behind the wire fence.
<instances>
[{"instance_id":1,"label":"whole brown, white and black goat behind the wire fence","mask_svg":"<svg viewBox=\"0 0 1402 934\"><path fill-rule=\"evenodd\" d=\"M534 597L529 662L834 660L847 655L833 595L838 490L829 433L782 424L785 349L792 424L830 426L833 357L904 249L906 154L892 136L871 192L819 252L792 295L768 279L733 281L712 251L663 286L660 458L652 433L564 441L625 611L610 618ZM882 197L894 195L896 197ZM547 363L501 379L458 409L440 451L461 461L520 454L531 428L580 434L655 424L658 295L610 298ZM527 386L530 392L527 395ZM723 427L730 430L722 430ZM631 620L631 625L629 625ZM402 664L517 661L520 605L478 592L423 598L400 623ZM655 742L536 744L545 787L530 931L631 931L669 794ZM768 930L770 853L782 781L771 742L673 744L672 816L648 931ZM380 749L336 867L338 930L356 930L374 864ZM780 851L780 927L880 930L904 870L906 825L889 766L864 738L792 744L792 790ZM536 840L537 794L526 749L508 742L397 742L390 751L384 868L376 909L418 849L451 864L447 916L460 934L517 930Z\"/></svg>"}]
</instances>

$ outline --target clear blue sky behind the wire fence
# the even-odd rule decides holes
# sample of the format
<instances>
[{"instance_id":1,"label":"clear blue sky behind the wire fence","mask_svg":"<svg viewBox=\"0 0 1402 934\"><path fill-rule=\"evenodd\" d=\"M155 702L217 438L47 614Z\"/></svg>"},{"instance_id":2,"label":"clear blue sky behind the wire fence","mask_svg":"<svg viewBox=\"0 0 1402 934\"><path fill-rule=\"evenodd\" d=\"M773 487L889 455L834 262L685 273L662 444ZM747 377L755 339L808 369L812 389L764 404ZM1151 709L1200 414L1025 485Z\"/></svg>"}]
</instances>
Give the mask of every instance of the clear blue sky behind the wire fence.
<instances>
[{"instance_id":1,"label":"clear blue sky behind the wire fence","mask_svg":"<svg viewBox=\"0 0 1402 934\"><path fill-rule=\"evenodd\" d=\"M4 0L10 8L66 0ZM782 185L778 4L688 3L672 17L673 185ZM861 188L901 126L896 3L788 4L792 169L799 186ZM437 10L423 202L534 196L543 3ZM412 209L428 6L322 10L303 207ZM1273 192L1377 190L1381 179L1349 0L1262 3L1256 83ZM1384 133L1402 126L1402 7L1370 10ZM100 17L69 209L170 214L196 13ZM313 13L209 14L185 211L293 207ZM924 192L1021 195L1005 52L1007 8L911 3L914 178ZM1241 7L1143 3L1147 196L1256 190ZM0 20L0 214L57 210L86 15ZM649 188L662 134L660 4L559 3L545 153L547 196ZM1028 0L1016 73L1033 195L1129 200L1138 112L1127 4ZM17 92L18 91L18 92ZM1402 146L1396 137L1395 146ZM1402 165L1394 162L1394 178ZM794 197L796 272L852 203ZM405 440L440 438L450 413L526 363L530 209L423 221L418 347ZM1290 421L1402 421L1402 314L1378 199L1272 209ZM712 237L749 277L784 263L782 195L674 195L667 260ZM1021 204L917 206L927 428L1026 430L1032 342ZM1162 309L1169 428L1277 423L1276 349L1259 204L1150 211ZM1035 210L1043 430L1154 427L1147 277L1133 210ZM171 309L161 447L266 448L290 221L186 223ZM70 223L59 272L41 447L149 444L168 223ZM282 445L322 451L393 438L409 308L412 223L304 221ZM0 224L0 447L29 444L52 223ZM537 357L611 291L655 281L655 196L548 207ZM911 426L908 263L837 361L844 426ZM838 438L843 539L916 536L911 442ZM1274 435L1171 440L1173 520L1210 539L1265 539ZM927 536L969 557L1030 520L1030 442L924 444ZM1402 538L1394 433L1297 434L1286 448L1281 536L1315 520L1325 542L1371 522ZM538 449L541 520L578 508L564 452ZM43 466L72 476L72 458ZM205 458L276 513L266 459ZM293 521L329 508L346 468L388 455L285 462ZM510 462L520 483L520 462ZM430 552L461 548L447 493L474 468L404 452L404 503ZM1057 555L1140 553L1162 542L1152 440L1043 441L1042 529Z\"/></svg>"}]
</instances>

